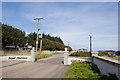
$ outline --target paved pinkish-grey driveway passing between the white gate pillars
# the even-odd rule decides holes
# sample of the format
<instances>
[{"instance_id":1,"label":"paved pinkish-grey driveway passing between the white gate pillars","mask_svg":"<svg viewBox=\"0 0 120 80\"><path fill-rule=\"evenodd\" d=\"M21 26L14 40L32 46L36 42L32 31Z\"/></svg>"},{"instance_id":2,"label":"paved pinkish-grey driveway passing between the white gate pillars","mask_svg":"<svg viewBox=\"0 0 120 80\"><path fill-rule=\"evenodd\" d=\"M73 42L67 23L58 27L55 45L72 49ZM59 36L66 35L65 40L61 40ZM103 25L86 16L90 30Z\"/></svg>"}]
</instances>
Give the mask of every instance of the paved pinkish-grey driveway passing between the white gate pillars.
<instances>
[{"instance_id":1,"label":"paved pinkish-grey driveway passing between the white gate pillars","mask_svg":"<svg viewBox=\"0 0 120 80\"><path fill-rule=\"evenodd\" d=\"M2 68L3 78L62 78L66 75L68 66L62 64L63 54L38 60L24 62Z\"/></svg>"}]
</instances>

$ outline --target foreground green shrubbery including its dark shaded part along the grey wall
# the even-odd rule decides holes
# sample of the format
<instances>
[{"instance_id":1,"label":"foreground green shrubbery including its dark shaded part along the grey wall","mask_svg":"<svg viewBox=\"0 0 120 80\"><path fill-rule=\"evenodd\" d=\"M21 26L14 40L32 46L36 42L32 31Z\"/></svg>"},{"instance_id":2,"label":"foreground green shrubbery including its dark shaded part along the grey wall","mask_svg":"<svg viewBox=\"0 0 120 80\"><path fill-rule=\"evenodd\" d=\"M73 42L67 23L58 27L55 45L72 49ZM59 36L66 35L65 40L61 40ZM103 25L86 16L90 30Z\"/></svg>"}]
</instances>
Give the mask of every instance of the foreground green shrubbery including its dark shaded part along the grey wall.
<instances>
[{"instance_id":1,"label":"foreground green shrubbery including its dark shaded part along the grey wall","mask_svg":"<svg viewBox=\"0 0 120 80\"><path fill-rule=\"evenodd\" d=\"M98 67L93 63L73 62L63 80L118 80L116 75L100 75Z\"/></svg>"}]
</instances>

